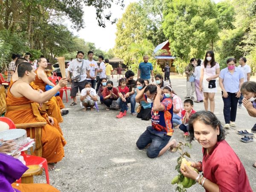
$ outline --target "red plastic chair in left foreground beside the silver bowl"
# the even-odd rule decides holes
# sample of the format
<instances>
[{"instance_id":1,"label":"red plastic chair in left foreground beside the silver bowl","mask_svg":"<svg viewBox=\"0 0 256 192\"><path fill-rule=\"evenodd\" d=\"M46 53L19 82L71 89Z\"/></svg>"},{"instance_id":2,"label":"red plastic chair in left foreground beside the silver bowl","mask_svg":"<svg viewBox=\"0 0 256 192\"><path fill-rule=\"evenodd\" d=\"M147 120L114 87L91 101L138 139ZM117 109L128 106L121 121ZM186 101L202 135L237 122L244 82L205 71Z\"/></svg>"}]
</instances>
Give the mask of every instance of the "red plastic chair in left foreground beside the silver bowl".
<instances>
[{"instance_id":1,"label":"red plastic chair in left foreground beside the silver bowl","mask_svg":"<svg viewBox=\"0 0 256 192\"><path fill-rule=\"evenodd\" d=\"M9 125L9 129L16 129L15 124L11 119L7 117L0 117L0 121L6 122ZM24 161L26 162L26 166L40 165L41 168L44 168L47 184L50 184L47 160L43 157L28 155L25 153L25 151L22 151L21 155L23 156ZM17 183L21 183L21 178L17 180Z\"/></svg>"}]
</instances>

